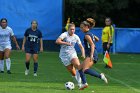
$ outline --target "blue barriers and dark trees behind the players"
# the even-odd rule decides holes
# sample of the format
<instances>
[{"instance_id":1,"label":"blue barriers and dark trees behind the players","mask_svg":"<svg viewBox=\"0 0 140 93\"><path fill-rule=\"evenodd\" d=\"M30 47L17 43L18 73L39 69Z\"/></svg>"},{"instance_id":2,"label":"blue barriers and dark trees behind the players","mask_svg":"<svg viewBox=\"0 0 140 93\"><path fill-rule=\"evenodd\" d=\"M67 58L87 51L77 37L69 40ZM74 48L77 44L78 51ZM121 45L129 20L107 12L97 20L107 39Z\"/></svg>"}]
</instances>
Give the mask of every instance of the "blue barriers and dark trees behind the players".
<instances>
[{"instance_id":1,"label":"blue barriers and dark trees behind the players","mask_svg":"<svg viewBox=\"0 0 140 93\"><path fill-rule=\"evenodd\" d=\"M100 38L96 43L102 53L101 34L105 17L111 17L115 27L113 53L140 53L140 0L0 0L0 18L7 18L21 46L24 32L37 20L43 33L44 50L59 51L55 44L66 31L67 19L76 24L76 34L83 41L79 25L88 17L96 20L92 33ZM13 49L14 45L13 45ZM79 52L79 48L76 46Z\"/></svg>"}]
</instances>

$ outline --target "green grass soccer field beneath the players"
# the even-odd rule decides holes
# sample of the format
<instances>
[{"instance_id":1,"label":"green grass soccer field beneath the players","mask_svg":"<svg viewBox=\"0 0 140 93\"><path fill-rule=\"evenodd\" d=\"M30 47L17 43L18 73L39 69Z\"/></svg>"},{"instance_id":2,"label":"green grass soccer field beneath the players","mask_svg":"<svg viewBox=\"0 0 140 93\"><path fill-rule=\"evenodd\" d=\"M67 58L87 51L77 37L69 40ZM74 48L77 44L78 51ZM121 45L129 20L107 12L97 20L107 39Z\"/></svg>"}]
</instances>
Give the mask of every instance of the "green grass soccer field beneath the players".
<instances>
[{"instance_id":1,"label":"green grass soccer field beneath the players","mask_svg":"<svg viewBox=\"0 0 140 93\"><path fill-rule=\"evenodd\" d=\"M113 69L105 69L103 56L99 55L99 58L98 64L93 69L105 73L109 84L87 76L89 88L79 91L76 86L74 90L68 91L64 83L75 81L60 63L58 53L41 53L38 76L34 77L33 61L31 61L29 75L25 76L24 53L12 51L12 74L7 74L6 70L5 73L0 73L0 93L140 93L140 55L111 55Z\"/></svg>"}]
</instances>

